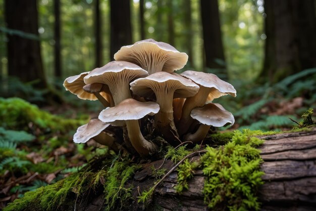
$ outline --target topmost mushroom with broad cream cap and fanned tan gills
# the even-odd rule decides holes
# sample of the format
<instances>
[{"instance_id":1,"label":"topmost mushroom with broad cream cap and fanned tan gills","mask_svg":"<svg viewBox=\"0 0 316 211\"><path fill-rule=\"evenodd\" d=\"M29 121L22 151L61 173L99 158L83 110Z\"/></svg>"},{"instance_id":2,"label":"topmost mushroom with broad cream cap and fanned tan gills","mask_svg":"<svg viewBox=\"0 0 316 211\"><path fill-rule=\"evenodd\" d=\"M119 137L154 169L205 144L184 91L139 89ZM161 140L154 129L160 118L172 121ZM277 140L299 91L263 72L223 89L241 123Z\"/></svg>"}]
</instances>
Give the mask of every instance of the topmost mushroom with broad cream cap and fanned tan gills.
<instances>
[{"instance_id":1,"label":"topmost mushroom with broad cream cap and fanned tan gills","mask_svg":"<svg viewBox=\"0 0 316 211\"><path fill-rule=\"evenodd\" d=\"M171 45L154 39L137 41L130 46L123 46L115 55L115 60L129 61L153 74L159 71L174 72L181 69L188 61L186 53L180 53Z\"/></svg>"}]
</instances>

